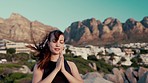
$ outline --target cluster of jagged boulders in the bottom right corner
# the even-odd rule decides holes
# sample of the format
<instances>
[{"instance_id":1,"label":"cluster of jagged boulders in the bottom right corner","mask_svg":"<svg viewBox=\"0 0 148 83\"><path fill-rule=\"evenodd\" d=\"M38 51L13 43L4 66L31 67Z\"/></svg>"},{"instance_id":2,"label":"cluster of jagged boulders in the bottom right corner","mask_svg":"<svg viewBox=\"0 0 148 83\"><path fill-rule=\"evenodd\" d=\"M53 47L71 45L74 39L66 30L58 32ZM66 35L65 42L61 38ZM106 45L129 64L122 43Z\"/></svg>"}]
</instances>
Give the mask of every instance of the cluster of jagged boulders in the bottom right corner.
<instances>
[{"instance_id":1,"label":"cluster of jagged boulders in the bottom right corner","mask_svg":"<svg viewBox=\"0 0 148 83\"><path fill-rule=\"evenodd\" d=\"M148 83L148 69L143 67L129 67L125 71L114 68L112 72L113 74L106 74L104 79L113 83Z\"/></svg>"}]
</instances>

